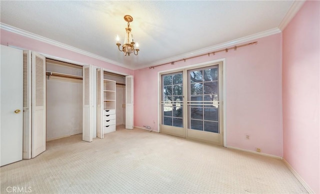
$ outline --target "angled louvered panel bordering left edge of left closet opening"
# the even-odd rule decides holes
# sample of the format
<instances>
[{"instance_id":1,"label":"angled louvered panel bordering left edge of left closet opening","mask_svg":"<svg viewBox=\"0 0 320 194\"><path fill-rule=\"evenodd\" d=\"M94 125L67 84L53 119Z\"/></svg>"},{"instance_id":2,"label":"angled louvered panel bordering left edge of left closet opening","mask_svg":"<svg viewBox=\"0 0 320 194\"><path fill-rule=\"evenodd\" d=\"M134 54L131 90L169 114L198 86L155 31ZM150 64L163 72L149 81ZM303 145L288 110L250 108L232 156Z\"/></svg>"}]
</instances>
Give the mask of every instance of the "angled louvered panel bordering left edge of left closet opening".
<instances>
[{"instance_id":1,"label":"angled louvered panel bordering left edge of left closet opening","mask_svg":"<svg viewBox=\"0 0 320 194\"><path fill-rule=\"evenodd\" d=\"M45 151L45 57L31 52L31 157Z\"/></svg>"}]
</instances>

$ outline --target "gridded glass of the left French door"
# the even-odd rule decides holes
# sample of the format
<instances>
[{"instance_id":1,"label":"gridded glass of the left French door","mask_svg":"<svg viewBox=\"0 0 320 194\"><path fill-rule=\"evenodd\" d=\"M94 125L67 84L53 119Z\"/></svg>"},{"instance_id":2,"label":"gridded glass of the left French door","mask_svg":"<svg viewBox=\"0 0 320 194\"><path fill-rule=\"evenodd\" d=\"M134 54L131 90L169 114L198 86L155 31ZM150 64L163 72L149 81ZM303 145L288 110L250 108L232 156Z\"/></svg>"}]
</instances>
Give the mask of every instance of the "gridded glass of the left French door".
<instances>
[{"instance_id":1,"label":"gridded glass of the left French door","mask_svg":"<svg viewBox=\"0 0 320 194\"><path fill-rule=\"evenodd\" d=\"M162 124L183 127L183 80L182 72L161 76Z\"/></svg>"}]
</instances>

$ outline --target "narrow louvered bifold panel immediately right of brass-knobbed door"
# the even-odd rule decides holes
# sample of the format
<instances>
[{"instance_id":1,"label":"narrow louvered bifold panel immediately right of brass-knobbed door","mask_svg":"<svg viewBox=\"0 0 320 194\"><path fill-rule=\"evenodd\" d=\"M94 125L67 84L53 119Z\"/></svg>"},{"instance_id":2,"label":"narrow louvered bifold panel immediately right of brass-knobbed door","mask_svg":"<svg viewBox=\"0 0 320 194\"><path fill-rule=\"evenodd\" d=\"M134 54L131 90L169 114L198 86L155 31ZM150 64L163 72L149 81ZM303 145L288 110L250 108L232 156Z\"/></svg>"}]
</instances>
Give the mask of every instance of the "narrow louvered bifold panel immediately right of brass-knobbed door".
<instances>
[{"instance_id":1,"label":"narrow louvered bifold panel immediately right of brass-knobbed door","mask_svg":"<svg viewBox=\"0 0 320 194\"><path fill-rule=\"evenodd\" d=\"M31 158L31 51L23 50L23 144L22 158Z\"/></svg>"}]
</instances>

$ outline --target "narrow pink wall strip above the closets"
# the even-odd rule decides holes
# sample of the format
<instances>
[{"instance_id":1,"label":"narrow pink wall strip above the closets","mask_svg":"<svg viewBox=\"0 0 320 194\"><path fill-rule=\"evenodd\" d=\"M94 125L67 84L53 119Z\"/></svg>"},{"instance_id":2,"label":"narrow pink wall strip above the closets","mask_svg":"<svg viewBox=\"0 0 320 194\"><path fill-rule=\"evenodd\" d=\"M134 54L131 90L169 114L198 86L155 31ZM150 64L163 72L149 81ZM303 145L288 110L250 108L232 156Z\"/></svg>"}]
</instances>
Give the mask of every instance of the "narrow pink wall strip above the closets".
<instances>
[{"instance_id":1,"label":"narrow pink wall strip above the closets","mask_svg":"<svg viewBox=\"0 0 320 194\"><path fill-rule=\"evenodd\" d=\"M96 58L92 58L90 56L79 54L68 49L64 49L32 38L28 38L3 29L0 30L0 34L0 43L3 45L9 44L16 47L52 55L55 57L60 57L63 59L73 60L84 64L92 64L94 66L103 67L112 71L133 74L133 70L131 69L114 65Z\"/></svg>"}]
</instances>

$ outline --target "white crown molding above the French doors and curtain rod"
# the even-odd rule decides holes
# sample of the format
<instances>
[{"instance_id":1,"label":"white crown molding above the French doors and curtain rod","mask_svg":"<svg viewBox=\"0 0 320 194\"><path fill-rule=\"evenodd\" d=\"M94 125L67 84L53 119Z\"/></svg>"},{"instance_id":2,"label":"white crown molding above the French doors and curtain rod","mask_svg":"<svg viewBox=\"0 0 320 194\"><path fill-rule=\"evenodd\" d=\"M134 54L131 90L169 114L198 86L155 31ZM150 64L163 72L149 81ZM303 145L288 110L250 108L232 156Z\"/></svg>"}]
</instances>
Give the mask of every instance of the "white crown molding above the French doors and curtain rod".
<instances>
[{"instance_id":1,"label":"white crown molding above the French doors and curtain rod","mask_svg":"<svg viewBox=\"0 0 320 194\"><path fill-rule=\"evenodd\" d=\"M158 60L158 61L155 61L155 62L153 62L151 64L141 65L141 66L138 66L138 67L134 68L134 70L140 69L140 68L149 67L149 66L155 66L155 65L159 65L159 64L170 63L172 61L180 60L182 58L188 58L188 57L192 57L192 56L196 56L196 55L212 52L214 50L222 49L222 48L229 47L229 46L234 46L235 44L244 43L244 42L247 42L247 41L255 40L255 39L258 39L258 38L261 38L261 37L273 35L273 34L280 33L280 32L281 32L281 30L279 28L275 27L275 28L272 28L272 29L268 29L268 30L265 30L265 31L262 31L262 32L258 32L258 33L252 34L252 35L247 35L247 36L244 36L244 37L241 37L241 38L237 38L237 39L226 41L226 42L223 42L223 43L220 43L220 44L216 44L216 45L213 45L213 46L201 48L201 49L198 49L198 50L195 50L195 51L191 51L191 52L187 52L187 53L184 53L184 54L180 54L180 55L177 55L177 56L174 56L174 57L165 58L163 60Z\"/></svg>"}]
</instances>

